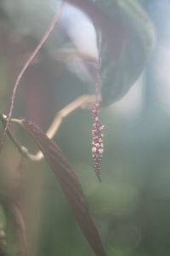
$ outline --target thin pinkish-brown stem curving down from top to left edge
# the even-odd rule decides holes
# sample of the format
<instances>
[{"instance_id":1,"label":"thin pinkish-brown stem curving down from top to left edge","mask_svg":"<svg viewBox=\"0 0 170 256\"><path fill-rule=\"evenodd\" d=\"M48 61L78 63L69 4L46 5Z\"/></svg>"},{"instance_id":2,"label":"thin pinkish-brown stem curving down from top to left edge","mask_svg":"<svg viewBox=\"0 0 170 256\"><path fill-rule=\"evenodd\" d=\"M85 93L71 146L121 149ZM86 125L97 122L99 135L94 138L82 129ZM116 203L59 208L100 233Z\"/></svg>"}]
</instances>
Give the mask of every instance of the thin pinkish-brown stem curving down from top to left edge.
<instances>
[{"instance_id":1,"label":"thin pinkish-brown stem curving down from top to left edge","mask_svg":"<svg viewBox=\"0 0 170 256\"><path fill-rule=\"evenodd\" d=\"M3 137L1 138L0 151L3 148L3 143L4 143L4 140L5 140L6 134L7 134L8 125L9 125L10 119L12 117L13 108L14 108L14 98L15 98L15 95L16 95L16 90L17 90L18 85L20 83L20 79L22 78L23 74L26 72L26 68L30 65L31 61L37 55L37 52L39 51L39 49L42 48L42 45L48 39L48 36L50 35L50 33L54 30L54 26L57 23L57 21L59 20L59 16L60 16L60 14L61 14L61 12L62 12L62 10L64 8L64 4L65 4L65 0L63 0L63 2L61 3L59 10L57 11L56 15L54 16L54 20L52 21L51 25L48 28L48 31L45 33L45 35L43 36L42 40L37 45L37 48L33 51L33 53L31 54L30 58L28 59L28 61L26 61L26 64L21 69L20 74L19 74L18 78L16 79L16 82L14 84L14 90L13 90L13 94L12 94L12 99L11 99L11 105L10 105L10 109L9 109L9 113L8 113L7 124L5 126L4 131L3 131Z\"/></svg>"}]
</instances>

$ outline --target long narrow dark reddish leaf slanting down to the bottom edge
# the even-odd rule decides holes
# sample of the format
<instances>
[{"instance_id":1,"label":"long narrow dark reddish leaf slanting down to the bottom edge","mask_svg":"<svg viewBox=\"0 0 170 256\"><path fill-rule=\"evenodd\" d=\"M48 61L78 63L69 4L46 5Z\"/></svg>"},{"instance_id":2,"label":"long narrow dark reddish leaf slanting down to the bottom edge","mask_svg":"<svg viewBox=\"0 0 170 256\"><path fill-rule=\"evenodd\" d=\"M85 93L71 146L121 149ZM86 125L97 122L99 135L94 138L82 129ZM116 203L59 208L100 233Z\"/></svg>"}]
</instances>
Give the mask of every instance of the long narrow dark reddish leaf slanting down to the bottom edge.
<instances>
[{"instance_id":1,"label":"long narrow dark reddish leaf slanting down to the bottom edge","mask_svg":"<svg viewBox=\"0 0 170 256\"><path fill-rule=\"evenodd\" d=\"M22 120L22 125L37 143L38 148L44 154L49 166L57 177L65 196L75 212L77 222L82 233L87 238L90 246L94 249L97 256L105 256L99 232L96 229L92 218L88 212L88 204L82 191L75 172L72 171L71 165L66 160L59 147L31 121Z\"/></svg>"}]
</instances>

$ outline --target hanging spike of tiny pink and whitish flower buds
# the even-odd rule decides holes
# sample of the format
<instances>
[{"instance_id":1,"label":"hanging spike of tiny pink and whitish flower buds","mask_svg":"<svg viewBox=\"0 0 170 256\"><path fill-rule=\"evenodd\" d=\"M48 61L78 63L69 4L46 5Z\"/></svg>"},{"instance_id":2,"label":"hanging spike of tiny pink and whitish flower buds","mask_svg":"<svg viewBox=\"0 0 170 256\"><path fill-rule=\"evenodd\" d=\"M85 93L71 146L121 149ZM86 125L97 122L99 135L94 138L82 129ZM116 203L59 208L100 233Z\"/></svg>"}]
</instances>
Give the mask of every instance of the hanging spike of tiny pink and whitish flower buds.
<instances>
[{"instance_id":1,"label":"hanging spike of tiny pink and whitish flower buds","mask_svg":"<svg viewBox=\"0 0 170 256\"><path fill-rule=\"evenodd\" d=\"M99 122L99 103L94 103L93 109L93 119L94 119L94 129L92 130L92 157L94 160L94 171L99 178L99 182L101 182L101 177L100 177L100 167L101 167L101 162L102 162L102 154L104 152L104 144L103 144L103 137L104 134L102 130L105 128L104 125L102 125Z\"/></svg>"}]
</instances>

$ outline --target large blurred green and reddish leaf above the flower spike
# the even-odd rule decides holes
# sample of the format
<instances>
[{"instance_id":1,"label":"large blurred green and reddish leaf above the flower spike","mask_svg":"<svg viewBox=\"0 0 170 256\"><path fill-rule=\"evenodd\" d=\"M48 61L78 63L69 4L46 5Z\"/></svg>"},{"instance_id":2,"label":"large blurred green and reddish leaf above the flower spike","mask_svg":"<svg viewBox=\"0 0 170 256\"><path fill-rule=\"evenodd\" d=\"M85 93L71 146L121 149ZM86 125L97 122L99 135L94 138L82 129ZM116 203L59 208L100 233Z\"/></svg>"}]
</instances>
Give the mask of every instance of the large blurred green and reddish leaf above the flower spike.
<instances>
[{"instance_id":1,"label":"large blurred green and reddish leaf above the flower spike","mask_svg":"<svg viewBox=\"0 0 170 256\"><path fill-rule=\"evenodd\" d=\"M103 105L125 96L143 72L155 45L149 16L136 0L67 0L82 9L104 38Z\"/></svg>"}]
</instances>

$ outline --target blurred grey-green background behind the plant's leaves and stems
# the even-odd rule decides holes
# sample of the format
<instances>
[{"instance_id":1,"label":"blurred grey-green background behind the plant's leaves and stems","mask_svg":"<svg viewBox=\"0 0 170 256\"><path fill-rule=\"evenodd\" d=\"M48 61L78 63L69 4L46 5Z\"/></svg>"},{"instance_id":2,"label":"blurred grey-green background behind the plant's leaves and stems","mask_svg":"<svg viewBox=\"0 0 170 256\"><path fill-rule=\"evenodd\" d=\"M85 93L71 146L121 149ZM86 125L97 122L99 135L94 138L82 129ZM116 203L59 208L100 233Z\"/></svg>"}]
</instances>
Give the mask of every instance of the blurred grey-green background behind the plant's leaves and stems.
<instances>
[{"instance_id":1,"label":"blurred grey-green background behind the plant's leaves and stems","mask_svg":"<svg viewBox=\"0 0 170 256\"><path fill-rule=\"evenodd\" d=\"M95 177L91 159L90 110L71 113L54 137L82 183L108 256L170 255L170 2L139 3L156 28L156 47L128 94L102 109L102 183ZM58 6L57 0L0 1L1 113L8 113L17 74ZM14 118L31 119L46 131L57 111L77 96L94 93L90 68L80 59L62 55L60 49L72 47L97 55L94 26L67 5L53 35L20 81ZM25 131L17 125L11 128L21 144L37 151ZM3 202L18 196L31 256L94 255L48 164L23 159L7 139L0 156L0 221L9 255L15 255L16 238Z\"/></svg>"}]
</instances>

